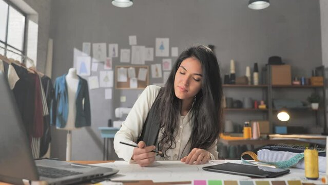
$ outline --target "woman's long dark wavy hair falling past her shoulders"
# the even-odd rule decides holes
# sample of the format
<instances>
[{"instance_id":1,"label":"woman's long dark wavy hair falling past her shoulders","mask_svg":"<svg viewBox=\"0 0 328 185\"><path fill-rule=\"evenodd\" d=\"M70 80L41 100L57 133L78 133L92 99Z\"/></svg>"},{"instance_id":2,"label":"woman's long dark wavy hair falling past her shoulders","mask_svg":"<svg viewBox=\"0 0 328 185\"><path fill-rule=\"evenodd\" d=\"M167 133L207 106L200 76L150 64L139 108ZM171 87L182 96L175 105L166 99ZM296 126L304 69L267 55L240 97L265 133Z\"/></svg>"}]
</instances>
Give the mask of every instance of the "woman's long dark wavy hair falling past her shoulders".
<instances>
[{"instance_id":1,"label":"woman's long dark wavy hair falling past her shoulders","mask_svg":"<svg viewBox=\"0 0 328 185\"><path fill-rule=\"evenodd\" d=\"M161 129L163 130L158 146L165 153L167 149L176 147L175 136L178 132L182 106L182 101L175 95L175 75L181 62L190 57L198 59L203 70L201 90L195 96L194 104L190 110L192 115L192 130L188 141L191 144L190 151L195 147L208 149L221 133L223 92L218 61L214 52L208 47L203 45L192 46L180 54L165 87L158 96Z\"/></svg>"}]
</instances>

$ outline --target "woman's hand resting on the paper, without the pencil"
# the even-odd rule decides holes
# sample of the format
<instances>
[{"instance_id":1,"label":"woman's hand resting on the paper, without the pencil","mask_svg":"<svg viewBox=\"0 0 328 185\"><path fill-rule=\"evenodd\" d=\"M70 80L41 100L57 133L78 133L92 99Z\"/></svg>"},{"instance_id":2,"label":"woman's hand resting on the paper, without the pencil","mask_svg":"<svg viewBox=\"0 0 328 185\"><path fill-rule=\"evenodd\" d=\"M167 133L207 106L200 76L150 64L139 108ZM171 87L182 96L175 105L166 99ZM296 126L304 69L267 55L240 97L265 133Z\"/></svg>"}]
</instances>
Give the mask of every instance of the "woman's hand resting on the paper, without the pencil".
<instances>
[{"instance_id":1,"label":"woman's hand resting on the paper, without the pencil","mask_svg":"<svg viewBox=\"0 0 328 185\"><path fill-rule=\"evenodd\" d=\"M185 156L181 159L181 162L184 162L186 164L205 164L210 159L210 153L204 149L197 149L194 148L191 150L191 152L188 154L188 156Z\"/></svg>"}]
</instances>

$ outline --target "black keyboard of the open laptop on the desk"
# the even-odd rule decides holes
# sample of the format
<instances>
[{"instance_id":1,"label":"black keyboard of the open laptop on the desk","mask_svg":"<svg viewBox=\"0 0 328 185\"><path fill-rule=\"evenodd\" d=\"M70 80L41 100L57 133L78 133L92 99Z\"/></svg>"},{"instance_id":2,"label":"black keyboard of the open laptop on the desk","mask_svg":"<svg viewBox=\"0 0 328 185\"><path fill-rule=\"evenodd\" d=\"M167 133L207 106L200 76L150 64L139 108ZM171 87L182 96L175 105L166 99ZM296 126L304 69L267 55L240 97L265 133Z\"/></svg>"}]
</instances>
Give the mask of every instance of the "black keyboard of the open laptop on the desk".
<instances>
[{"instance_id":1,"label":"black keyboard of the open laptop on the desk","mask_svg":"<svg viewBox=\"0 0 328 185\"><path fill-rule=\"evenodd\" d=\"M55 169L55 168L49 168L49 167L41 167L37 166L37 172L42 177L48 177L48 178L60 178L60 177L67 177L71 175L79 175L83 174L81 172L72 172L68 170L62 170L62 169Z\"/></svg>"}]
</instances>

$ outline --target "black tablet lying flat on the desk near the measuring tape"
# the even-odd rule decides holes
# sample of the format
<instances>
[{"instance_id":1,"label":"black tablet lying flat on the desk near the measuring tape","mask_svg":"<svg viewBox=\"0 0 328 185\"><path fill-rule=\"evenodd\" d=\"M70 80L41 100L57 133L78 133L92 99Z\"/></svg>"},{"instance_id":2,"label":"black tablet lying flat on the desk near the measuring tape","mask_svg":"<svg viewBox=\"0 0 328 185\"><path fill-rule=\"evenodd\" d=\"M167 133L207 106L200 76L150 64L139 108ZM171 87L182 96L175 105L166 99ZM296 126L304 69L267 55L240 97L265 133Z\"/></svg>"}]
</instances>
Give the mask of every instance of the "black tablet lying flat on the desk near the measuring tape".
<instances>
[{"instance_id":1,"label":"black tablet lying flat on the desk near the measuring tape","mask_svg":"<svg viewBox=\"0 0 328 185\"><path fill-rule=\"evenodd\" d=\"M260 167L257 165L236 164L230 162L203 167L203 170L260 178L272 178L290 172L288 169Z\"/></svg>"}]
</instances>

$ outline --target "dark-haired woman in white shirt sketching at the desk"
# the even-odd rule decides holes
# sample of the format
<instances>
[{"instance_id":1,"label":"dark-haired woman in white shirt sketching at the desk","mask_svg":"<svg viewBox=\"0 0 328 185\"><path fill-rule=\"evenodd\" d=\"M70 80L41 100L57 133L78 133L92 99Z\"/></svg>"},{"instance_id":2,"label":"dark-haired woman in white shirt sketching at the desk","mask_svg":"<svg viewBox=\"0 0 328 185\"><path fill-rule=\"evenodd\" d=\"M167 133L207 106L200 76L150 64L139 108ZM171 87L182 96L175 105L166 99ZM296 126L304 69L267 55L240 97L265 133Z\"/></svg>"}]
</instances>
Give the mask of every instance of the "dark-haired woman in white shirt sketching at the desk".
<instances>
[{"instance_id":1,"label":"dark-haired woman in white shirt sketching at the desk","mask_svg":"<svg viewBox=\"0 0 328 185\"><path fill-rule=\"evenodd\" d=\"M197 45L183 51L167 79L165 87L146 87L114 138L120 158L141 167L155 160L181 160L203 164L218 159L217 138L222 125L222 84L217 58L208 47ZM156 103L154 103L156 102ZM157 111L151 112L154 106ZM155 145L136 144L148 114L159 121ZM152 124L148 123L147 124ZM156 133L155 133L156 134ZM162 151L156 156L152 150Z\"/></svg>"}]
</instances>

